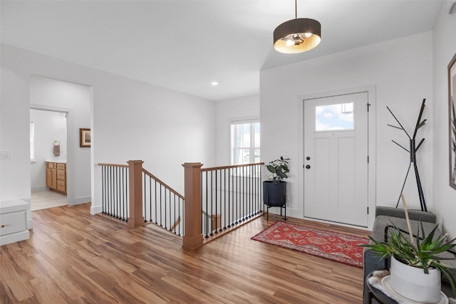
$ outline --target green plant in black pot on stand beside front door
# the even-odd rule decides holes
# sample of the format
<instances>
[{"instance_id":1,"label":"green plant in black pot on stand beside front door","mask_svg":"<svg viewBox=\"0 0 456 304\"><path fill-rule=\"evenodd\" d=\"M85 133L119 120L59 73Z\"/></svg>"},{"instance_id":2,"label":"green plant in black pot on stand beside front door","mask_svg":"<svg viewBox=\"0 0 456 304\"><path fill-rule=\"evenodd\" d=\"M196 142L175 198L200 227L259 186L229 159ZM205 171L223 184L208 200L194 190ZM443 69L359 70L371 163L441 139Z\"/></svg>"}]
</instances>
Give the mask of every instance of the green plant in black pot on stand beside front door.
<instances>
[{"instance_id":1,"label":"green plant in black pot on stand beside front door","mask_svg":"<svg viewBox=\"0 0 456 304\"><path fill-rule=\"evenodd\" d=\"M266 165L271 174L269 179L263 182L263 202L270 207L284 207L286 204L286 182L290 169L289 158L280 157ZM285 209L286 212L286 209ZM286 214L285 214L286 217Z\"/></svg>"}]
</instances>

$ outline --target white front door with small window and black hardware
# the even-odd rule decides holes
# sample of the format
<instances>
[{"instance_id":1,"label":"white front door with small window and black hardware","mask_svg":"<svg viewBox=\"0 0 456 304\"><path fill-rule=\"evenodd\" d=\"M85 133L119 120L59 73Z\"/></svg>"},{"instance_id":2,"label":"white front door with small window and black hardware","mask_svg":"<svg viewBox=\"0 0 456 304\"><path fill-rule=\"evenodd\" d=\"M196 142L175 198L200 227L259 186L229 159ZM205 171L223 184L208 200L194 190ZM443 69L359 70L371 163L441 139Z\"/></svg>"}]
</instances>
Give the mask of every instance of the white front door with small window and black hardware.
<instances>
[{"instance_id":1,"label":"white front door with small window and black hardware","mask_svg":"<svg viewBox=\"0 0 456 304\"><path fill-rule=\"evenodd\" d=\"M304 100L304 216L368 225L368 93Z\"/></svg>"}]
</instances>

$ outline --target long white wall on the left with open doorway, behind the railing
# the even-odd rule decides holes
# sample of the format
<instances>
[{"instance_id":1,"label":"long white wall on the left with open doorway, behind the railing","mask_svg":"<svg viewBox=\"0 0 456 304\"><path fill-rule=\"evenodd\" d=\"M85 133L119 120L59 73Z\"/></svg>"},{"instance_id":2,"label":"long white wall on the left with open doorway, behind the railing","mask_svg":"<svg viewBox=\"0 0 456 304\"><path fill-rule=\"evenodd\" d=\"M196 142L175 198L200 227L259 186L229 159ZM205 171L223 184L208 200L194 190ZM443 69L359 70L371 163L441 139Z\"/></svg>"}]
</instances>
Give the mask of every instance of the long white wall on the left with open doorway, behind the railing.
<instances>
[{"instance_id":1,"label":"long white wall on the left with open doorway, behind the railing","mask_svg":"<svg viewBox=\"0 0 456 304\"><path fill-rule=\"evenodd\" d=\"M2 201L30 201L31 75L91 87L93 213L101 210L100 162L125 164L128 159L142 159L148 171L181 193L183 162L215 163L212 101L2 44L0 147L11 150L11 158L0 161ZM78 132L80 126L71 123ZM14 135L7 130L15 130ZM68 135L68 150L76 146L73 140L78 142L78 135Z\"/></svg>"}]
</instances>

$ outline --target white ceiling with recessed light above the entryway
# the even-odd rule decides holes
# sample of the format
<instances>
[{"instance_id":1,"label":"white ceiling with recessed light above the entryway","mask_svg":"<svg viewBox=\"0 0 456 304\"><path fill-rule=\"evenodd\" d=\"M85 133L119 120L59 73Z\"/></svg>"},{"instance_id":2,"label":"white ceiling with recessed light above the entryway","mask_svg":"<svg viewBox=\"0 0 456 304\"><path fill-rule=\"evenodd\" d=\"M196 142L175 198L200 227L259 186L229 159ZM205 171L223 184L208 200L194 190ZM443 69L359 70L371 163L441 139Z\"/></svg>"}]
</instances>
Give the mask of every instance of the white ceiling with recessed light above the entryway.
<instances>
[{"instance_id":1,"label":"white ceiling with recessed light above the entryway","mask_svg":"<svg viewBox=\"0 0 456 304\"><path fill-rule=\"evenodd\" d=\"M440 0L298 0L322 42L281 54L293 0L4 1L1 42L209 100L259 94L259 71L430 31ZM210 85L217 80L219 85Z\"/></svg>"}]
</instances>

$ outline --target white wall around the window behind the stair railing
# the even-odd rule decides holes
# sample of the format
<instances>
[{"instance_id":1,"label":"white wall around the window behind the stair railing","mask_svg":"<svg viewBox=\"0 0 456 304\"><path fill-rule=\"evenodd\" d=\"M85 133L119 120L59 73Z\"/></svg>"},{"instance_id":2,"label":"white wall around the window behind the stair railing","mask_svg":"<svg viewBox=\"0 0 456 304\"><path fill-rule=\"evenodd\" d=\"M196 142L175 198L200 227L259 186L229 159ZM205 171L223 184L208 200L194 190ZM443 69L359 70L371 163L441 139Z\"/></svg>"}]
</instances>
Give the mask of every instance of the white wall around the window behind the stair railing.
<instances>
[{"instance_id":1,"label":"white wall around the window behind the stair railing","mask_svg":"<svg viewBox=\"0 0 456 304\"><path fill-rule=\"evenodd\" d=\"M226 166L231 163L231 122L259 119L259 95L219 100L215 103L215 117L216 163Z\"/></svg>"}]
</instances>

